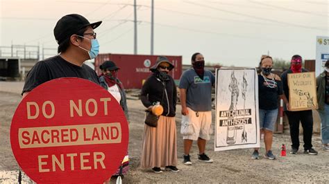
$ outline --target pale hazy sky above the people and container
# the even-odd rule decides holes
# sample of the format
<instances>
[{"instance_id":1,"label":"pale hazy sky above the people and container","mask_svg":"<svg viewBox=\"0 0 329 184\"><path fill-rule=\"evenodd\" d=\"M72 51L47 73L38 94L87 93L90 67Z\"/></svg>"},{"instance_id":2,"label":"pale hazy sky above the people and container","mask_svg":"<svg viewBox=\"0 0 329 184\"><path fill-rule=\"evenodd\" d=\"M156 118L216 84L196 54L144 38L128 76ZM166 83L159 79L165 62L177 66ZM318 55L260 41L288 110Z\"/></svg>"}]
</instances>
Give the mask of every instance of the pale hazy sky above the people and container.
<instances>
[{"instance_id":1,"label":"pale hazy sky above the people and container","mask_svg":"<svg viewBox=\"0 0 329 184\"><path fill-rule=\"evenodd\" d=\"M151 48L151 0L137 0L138 54ZM155 0L155 55L195 52L205 62L257 66L260 56L315 59L317 36L329 36L328 0ZM57 48L53 27L78 13L96 28L101 53L133 54L133 0L0 0L0 46ZM56 53L54 53L56 54Z\"/></svg>"}]
</instances>

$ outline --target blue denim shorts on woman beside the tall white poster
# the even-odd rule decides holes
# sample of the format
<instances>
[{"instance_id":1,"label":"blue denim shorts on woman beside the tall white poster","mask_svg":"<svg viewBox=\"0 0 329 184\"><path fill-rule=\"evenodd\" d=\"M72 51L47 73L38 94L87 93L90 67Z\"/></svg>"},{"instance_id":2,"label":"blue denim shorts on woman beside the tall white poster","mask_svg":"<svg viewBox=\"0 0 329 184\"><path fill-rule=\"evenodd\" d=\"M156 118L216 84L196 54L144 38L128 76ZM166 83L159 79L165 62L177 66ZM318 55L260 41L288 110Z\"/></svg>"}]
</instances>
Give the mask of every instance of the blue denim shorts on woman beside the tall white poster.
<instances>
[{"instance_id":1,"label":"blue denim shorts on woman beside the tall white poster","mask_svg":"<svg viewBox=\"0 0 329 184\"><path fill-rule=\"evenodd\" d=\"M274 131L274 125L278 118L278 109L264 110L260 109L260 129Z\"/></svg>"}]
</instances>

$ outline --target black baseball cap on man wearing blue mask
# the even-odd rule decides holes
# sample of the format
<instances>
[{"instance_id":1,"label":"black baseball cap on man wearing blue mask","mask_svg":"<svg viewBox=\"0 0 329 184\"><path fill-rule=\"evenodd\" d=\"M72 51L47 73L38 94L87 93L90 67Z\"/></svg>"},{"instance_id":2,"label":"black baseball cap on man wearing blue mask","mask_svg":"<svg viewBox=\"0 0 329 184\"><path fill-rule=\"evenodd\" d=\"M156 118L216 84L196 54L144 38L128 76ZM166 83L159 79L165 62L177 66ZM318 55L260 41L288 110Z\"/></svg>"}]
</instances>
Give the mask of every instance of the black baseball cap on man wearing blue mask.
<instances>
[{"instance_id":1,"label":"black baseball cap on man wearing blue mask","mask_svg":"<svg viewBox=\"0 0 329 184\"><path fill-rule=\"evenodd\" d=\"M92 28L95 29L101 25L101 22L102 21L97 21L90 24L90 22L82 15L65 15L57 21L55 28L53 28L53 35L55 35L56 42L61 44L65 39L76 34L82 28L92 26Z\"/></svg>"}]
</instances>

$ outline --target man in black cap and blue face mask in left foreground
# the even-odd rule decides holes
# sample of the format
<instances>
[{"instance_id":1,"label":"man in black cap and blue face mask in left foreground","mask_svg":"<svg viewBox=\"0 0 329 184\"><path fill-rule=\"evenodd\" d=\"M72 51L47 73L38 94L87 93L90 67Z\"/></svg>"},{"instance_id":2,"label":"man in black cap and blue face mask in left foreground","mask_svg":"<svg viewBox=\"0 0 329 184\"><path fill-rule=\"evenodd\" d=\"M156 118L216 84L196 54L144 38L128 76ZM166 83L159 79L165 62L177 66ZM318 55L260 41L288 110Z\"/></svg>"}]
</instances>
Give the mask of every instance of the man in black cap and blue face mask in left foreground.
<instances>
[{"instance_id":1,"label":"man in black cap and blue face mask in left foreground","mask_svg":"<svg viewBox=\"0 0 329 184\"><path fill-rule=\"evenodd\" d=\"M58 55L37 62L28 72L23 98L36 86L60 77L79 77L99 84L98 76L86 64L99 53L99 43L94 29L102 21L92 24L78 14L65 15L58 20L53 34L58 43Z\"/></svg>"}]
</instances>

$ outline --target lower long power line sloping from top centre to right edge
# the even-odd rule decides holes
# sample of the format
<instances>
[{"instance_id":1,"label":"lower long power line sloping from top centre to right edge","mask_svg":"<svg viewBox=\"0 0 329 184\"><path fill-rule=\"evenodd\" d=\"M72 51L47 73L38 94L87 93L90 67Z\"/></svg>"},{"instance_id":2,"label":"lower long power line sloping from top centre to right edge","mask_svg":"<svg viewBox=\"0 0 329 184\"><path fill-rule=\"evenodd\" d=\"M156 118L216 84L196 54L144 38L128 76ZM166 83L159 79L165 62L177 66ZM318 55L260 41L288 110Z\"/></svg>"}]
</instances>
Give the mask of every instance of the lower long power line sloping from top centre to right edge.
<instances>
[{"instance_id":1,"label":"lower long power line sloping from top centre to right edge","mask_svg":"<svg viewBox=\"0 0 329 184\"><path fill-rule=\"evenodd\" d=\"M299 27L299 28L308 28L308 29L314 29L314 30L326 30L326 31L328 30L328 28L317 28L317 27L313 27L313 26L303 26L303 25L294 24L294 23L287 23L287 22L284 22L284 21L277 21L275 19L267 19L267 18L263 18L263 17L256 17L256 16L253 16L253 15L247 15L247 14L240 13L240 12L233 12L233 11L230 11L230 10L223 10L223 9L220 9L220 8L214 8L212 6L205 6L205 5L199 4L199 3L192 3L192 2L187 2L187 1L184 1L184 2L192 4L194 6L202 6L202 7L210 8L212 10L217 10L217 11L220 11L220 12L227 12L227 13L230 13L230 14L233 14L233 15L240 15L240 16L243 16L243 17L250 17L250 18L253 18L253 19L260 19L260 20L264 20L264 21L276 22L276 23L279 23L279 24L287 25L287 26L295 26L295 27Z\"/></svg>"}]
</instances>

